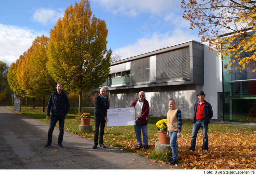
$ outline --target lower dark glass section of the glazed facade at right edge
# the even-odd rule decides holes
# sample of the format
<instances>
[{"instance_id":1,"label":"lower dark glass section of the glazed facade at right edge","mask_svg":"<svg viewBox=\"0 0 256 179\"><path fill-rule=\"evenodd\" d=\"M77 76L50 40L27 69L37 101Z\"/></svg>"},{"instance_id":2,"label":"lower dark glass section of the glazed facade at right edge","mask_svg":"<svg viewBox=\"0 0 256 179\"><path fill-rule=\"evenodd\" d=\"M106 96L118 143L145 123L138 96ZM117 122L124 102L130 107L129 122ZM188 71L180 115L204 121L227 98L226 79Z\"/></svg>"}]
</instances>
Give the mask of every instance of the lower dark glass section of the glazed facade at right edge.
<instances>
[{"instance_id":1,"label":"lower dark glass section of the glazed facade at right edge","mask_svg":"<svg viewBox=\"0 0 256 179\"><path fill-rule=\"evenodd\" d=\"M256 122L256 80L224 82L224 121Z\"/></svg>"}]
</instances>

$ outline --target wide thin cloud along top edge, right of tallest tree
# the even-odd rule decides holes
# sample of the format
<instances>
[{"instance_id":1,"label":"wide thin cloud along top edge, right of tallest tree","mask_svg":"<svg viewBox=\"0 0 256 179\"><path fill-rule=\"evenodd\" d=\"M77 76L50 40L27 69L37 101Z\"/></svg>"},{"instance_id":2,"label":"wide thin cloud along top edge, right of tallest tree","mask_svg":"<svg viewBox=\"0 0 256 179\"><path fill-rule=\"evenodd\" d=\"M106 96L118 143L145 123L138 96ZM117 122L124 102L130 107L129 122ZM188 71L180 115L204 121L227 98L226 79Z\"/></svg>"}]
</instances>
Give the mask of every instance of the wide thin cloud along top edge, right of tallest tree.
<instances>
[{"instance_id":1,"label":"wide thin cloud along top edge, right of tallest tree","mask_svg":"<svg viewBox=\"0 0 256 179\"><path fill-rule=\"evenodd\" d=\"M114 14L129 15L136 17L140 13L151 13L161 16L170 11L180 11L181 2L173 0L94 0L92 4L104 8ZM179 9L180 10L179 10Z\"/></svg>"}]
</instances>

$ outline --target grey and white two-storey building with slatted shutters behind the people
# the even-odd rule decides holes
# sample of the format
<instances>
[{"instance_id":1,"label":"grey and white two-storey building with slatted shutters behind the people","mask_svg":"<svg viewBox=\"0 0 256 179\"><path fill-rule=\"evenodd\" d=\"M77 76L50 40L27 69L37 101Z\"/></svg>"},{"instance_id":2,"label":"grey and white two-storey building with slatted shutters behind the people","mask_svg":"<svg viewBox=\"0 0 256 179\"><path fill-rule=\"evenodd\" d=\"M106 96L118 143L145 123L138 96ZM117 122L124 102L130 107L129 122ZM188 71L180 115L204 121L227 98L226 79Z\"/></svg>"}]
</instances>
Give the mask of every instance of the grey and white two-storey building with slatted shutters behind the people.
<instances>
[{"instance_id":1,"label":"grey and white two-storey building with slatted shutters behind the people","mask_svg":"<svg viewBox=\"0 0 256 179\"><path fill-rule=\"evenodd\" d=\"M110 108L130 107L144 91L150 116L166 116L173 98L183 118L193 118L197 94L204 91L213 119L223 117L222 59L194 40L111 62L102 87L110 93Z\"/></svg>"}]
</instances>

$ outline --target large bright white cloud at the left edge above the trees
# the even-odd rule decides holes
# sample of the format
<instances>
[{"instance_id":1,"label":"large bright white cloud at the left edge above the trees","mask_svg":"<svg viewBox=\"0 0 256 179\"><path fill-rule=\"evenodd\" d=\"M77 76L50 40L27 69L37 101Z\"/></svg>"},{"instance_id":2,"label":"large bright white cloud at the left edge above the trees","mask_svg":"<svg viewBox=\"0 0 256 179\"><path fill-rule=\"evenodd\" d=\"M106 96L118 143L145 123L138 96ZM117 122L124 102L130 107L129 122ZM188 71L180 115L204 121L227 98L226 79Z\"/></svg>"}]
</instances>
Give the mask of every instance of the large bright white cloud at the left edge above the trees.
<instances>
[{"instance_id":1,"label":"large bright white cloud at the left edge above the trees","mask_svg":"<svg viewBox=\"0 0 256 179\"><path fill-rule=\"evenodd\" d=\"M15 62L43 34L48 36L44 32L0 24L0 60L8 64Z\"/></svg>"}]
</instances>

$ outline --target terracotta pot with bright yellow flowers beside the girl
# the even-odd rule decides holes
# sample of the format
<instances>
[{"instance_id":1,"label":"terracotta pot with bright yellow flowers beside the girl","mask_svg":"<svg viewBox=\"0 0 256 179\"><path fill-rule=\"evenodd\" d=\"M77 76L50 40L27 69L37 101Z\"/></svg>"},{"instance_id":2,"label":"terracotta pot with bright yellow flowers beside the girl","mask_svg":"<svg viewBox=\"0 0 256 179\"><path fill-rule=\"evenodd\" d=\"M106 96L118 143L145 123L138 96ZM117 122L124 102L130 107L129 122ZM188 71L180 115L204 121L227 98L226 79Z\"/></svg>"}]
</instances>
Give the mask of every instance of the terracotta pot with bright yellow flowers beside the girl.
<instances>
[{"instance_id":1,"label":"terracotta pot with bright yellow flowers beside the girl","mask_svg":"<svg viewBox=\"0 0 256 179\"><path fill-rule=\"evenodd\" d=\"M157 121L156 129L158 132L160 144L170 144L170 138L166 136L167 133L167 119Z\"/></svg>"}]
</instances>

